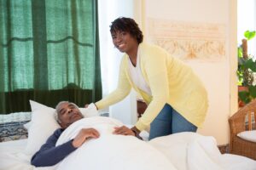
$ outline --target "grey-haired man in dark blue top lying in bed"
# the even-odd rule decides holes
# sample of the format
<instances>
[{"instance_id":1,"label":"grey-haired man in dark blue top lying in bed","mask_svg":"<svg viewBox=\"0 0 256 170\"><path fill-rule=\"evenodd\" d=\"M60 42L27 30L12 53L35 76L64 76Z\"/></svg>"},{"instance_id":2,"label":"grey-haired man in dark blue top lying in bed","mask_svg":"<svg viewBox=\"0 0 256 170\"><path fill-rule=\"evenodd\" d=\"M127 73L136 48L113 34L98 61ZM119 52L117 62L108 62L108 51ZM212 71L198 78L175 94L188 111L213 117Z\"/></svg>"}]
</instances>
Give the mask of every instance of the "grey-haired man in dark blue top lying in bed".
<instances>
[{"instance_id":1,"label":"grey-haired man in dark blue top lying in bed","mask_svg":"<svg viewBox=\"0 0 256 170\"><path fill-rule=\"evenodd\" d=\"M36 167L53 166L79 148L88 139L97 139L100 136L94 128L83 128L74 139L65 144L55 146L61 133L73 122L79 121L84 117L79 111L79 107L68 101L62 101L56 106L56 114L57 122L61 128L55 130L40 150L32 156L31 163Z\"/></svg>"}]
</instances>

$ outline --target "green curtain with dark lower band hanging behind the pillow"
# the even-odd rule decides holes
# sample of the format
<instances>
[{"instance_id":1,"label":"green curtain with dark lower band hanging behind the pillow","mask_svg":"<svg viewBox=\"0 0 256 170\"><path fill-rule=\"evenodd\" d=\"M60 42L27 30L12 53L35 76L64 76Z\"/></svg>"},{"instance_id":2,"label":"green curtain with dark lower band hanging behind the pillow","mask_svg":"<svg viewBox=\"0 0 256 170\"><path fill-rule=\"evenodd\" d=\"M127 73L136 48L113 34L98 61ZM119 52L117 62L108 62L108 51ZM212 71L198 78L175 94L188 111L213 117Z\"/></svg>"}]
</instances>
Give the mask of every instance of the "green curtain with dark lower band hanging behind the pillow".
<instances>
[{"instance_id":1,"label":"green curtain with dark lower band hanging behind the pillow","mask_svg":"<svg viewBox=\"0 0 256 170\"><path fill-rule=\"evenodd\" d=\"M0 114L102 98L96 0L0 0Z\"/></svg>"}]
</instances>

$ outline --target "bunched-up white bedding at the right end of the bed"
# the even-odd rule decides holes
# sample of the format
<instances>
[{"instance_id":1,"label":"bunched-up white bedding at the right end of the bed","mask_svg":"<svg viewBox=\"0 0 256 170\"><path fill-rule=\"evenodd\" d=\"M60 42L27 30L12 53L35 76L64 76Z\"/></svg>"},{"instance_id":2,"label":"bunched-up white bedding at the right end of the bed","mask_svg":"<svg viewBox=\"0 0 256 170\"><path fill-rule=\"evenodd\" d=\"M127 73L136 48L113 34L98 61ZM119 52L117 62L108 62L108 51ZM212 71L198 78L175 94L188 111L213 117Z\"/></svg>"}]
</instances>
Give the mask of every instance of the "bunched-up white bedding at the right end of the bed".
<instances>
[{"instance_id":1,"label":"bunched-up white bedding at the right end of the bed","mask_svg":"<svg viewBox=\"0 0 256 170\"><path fill-rule=\"evenodd\" d=\"M256 161L231 154L222 155L212 136L175 133L148 143L160 150L178 170L256 170Z\"/></svg>"}]
</instances>

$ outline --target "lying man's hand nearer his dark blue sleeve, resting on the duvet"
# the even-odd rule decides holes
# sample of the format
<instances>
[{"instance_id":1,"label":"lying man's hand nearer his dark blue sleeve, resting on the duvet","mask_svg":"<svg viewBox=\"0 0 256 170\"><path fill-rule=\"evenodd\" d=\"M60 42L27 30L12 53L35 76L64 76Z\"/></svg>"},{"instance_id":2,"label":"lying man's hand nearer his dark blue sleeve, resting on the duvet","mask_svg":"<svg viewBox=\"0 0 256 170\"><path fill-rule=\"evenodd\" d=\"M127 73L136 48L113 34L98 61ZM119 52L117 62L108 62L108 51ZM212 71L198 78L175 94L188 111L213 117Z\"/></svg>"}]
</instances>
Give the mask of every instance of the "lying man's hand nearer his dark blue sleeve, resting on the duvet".
<instances>
[{"instance_id":1,"label":"lying man's hand nearer his dark blue sleeve, resting on the duvet","mask_svg":"<svg viewBox=\"0 0 256 170\"><path fill-rule=\"evenodd\" d=\"M100 137L100 133L94 128L83 128L78 135L73 139L73 147L79 148L88 139L97 139Z\"/></svg>"}]
</instances>

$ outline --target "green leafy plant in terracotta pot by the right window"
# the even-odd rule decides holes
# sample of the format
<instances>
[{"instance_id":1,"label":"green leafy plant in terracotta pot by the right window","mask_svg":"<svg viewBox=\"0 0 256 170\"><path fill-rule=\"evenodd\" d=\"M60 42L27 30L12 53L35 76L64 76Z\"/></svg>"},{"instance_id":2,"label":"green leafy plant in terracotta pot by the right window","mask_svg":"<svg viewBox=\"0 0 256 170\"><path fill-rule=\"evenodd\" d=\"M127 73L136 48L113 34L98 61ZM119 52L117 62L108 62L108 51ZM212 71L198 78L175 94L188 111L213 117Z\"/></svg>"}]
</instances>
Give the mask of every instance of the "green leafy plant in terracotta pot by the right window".
<instances>
[{"instance_id":1,"label":"green leafy plant in terracotta pot by the right window","mask_svg":"<svg viewBox=\"0 0 256 170\"><path fill-rule=\"evenodd\" d=\"M239 100L244 104L256 98L256 61L253 55L247 54L247 41L255 37L255 31L245 31L242 44L238 47L238 86Z\"/></svg>"}]
</instances>

